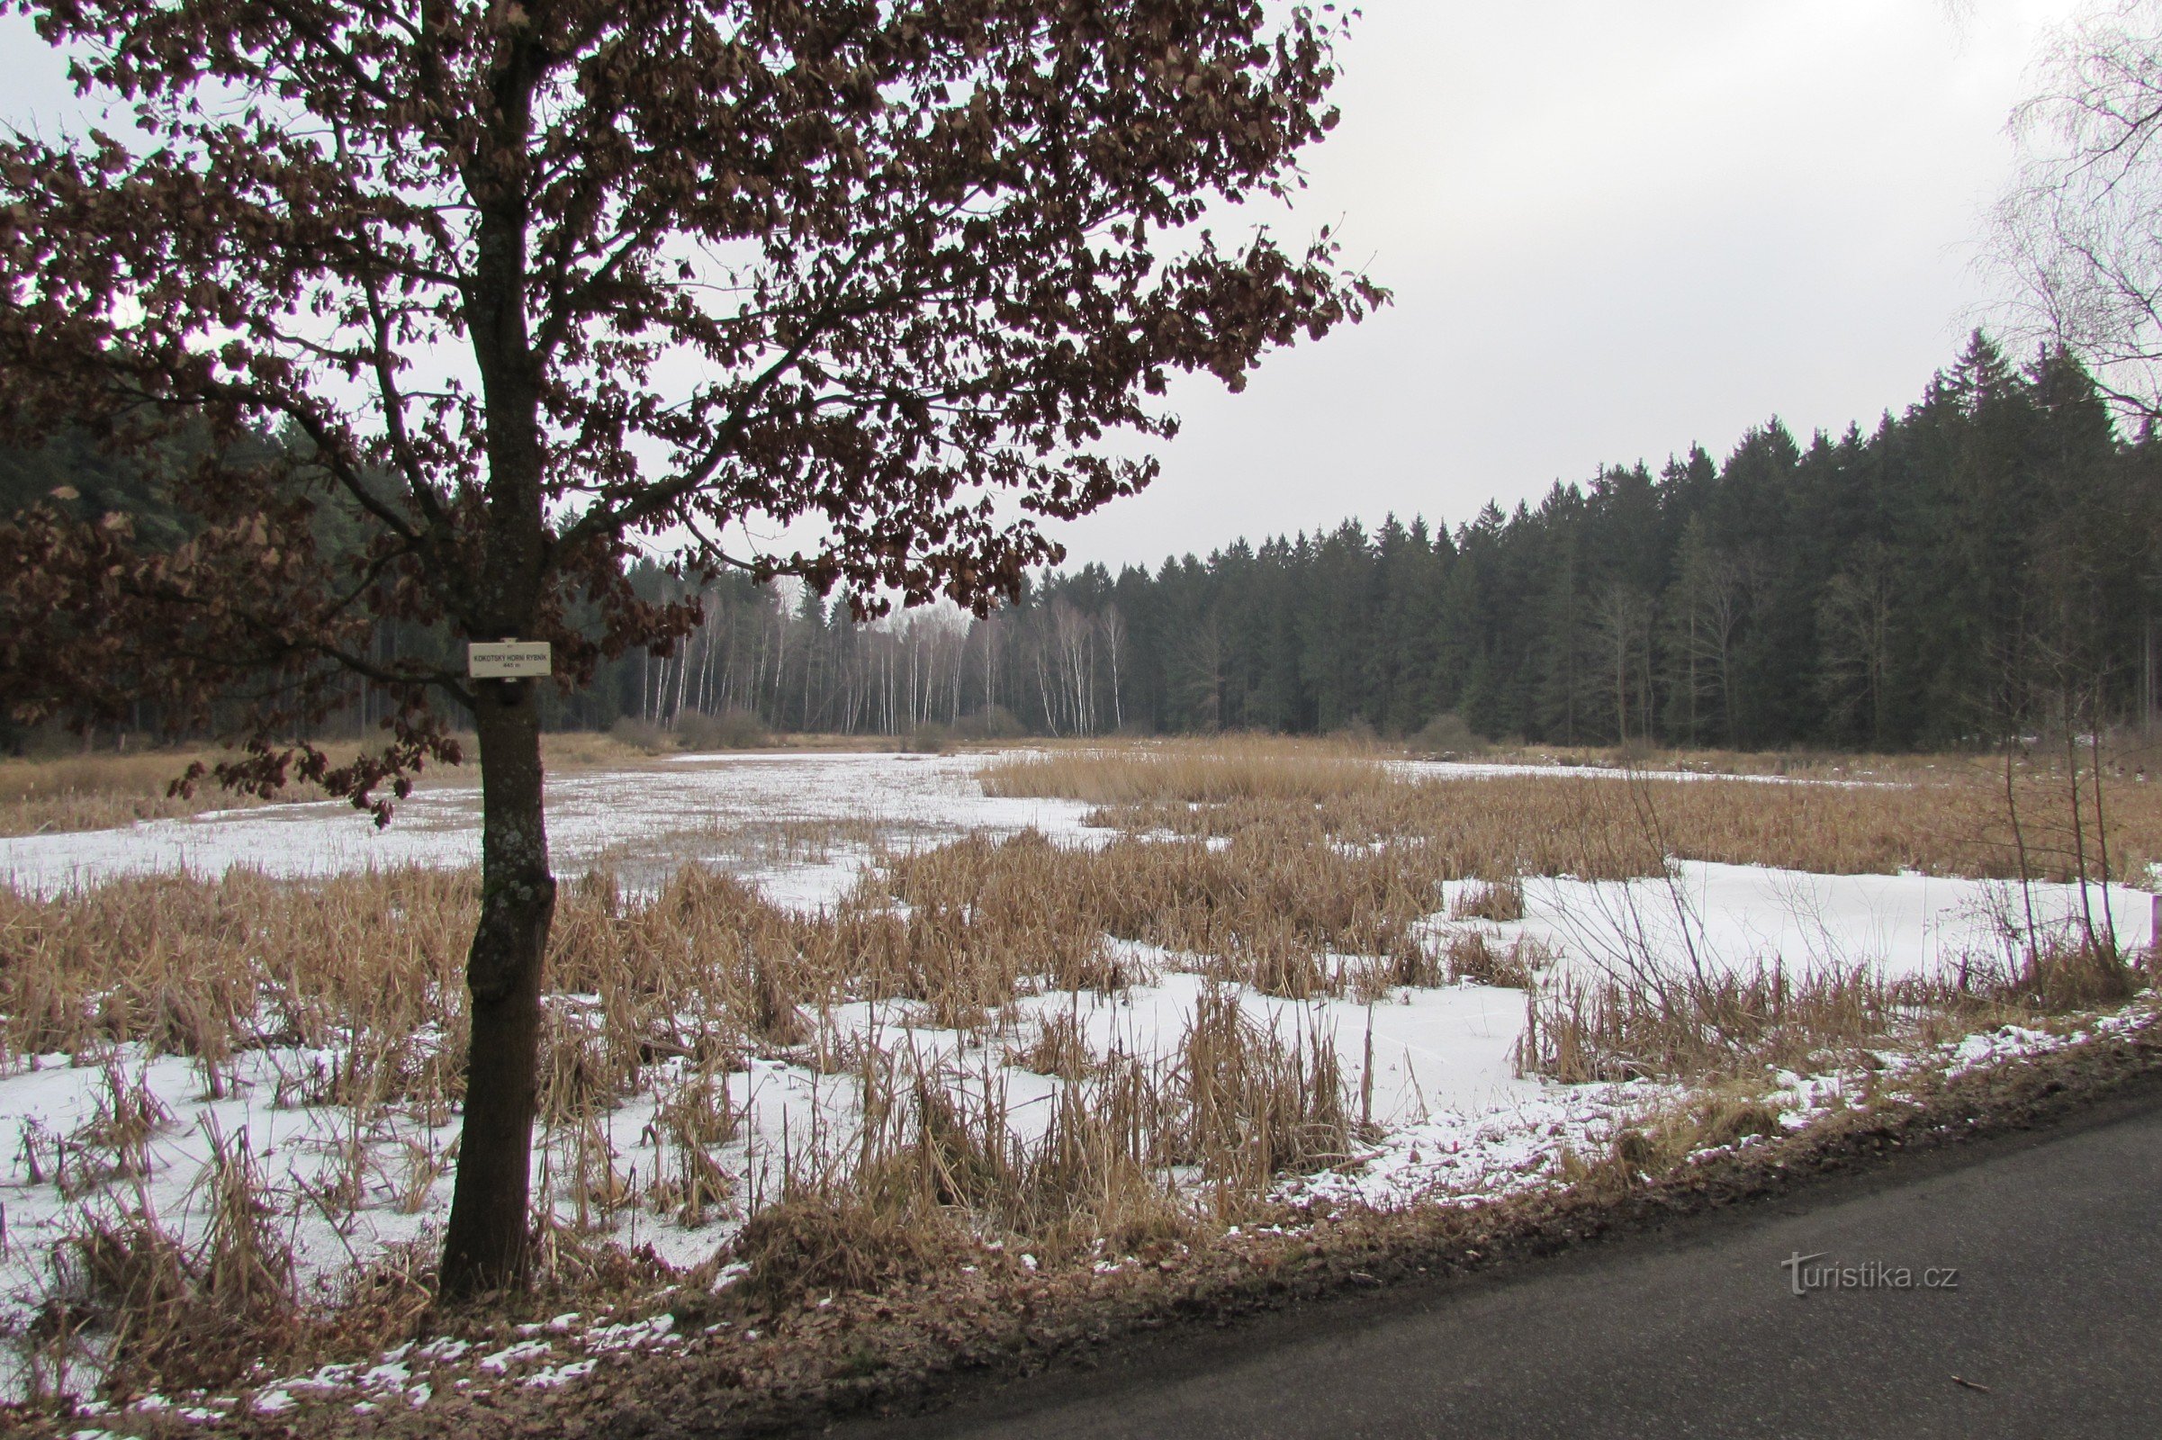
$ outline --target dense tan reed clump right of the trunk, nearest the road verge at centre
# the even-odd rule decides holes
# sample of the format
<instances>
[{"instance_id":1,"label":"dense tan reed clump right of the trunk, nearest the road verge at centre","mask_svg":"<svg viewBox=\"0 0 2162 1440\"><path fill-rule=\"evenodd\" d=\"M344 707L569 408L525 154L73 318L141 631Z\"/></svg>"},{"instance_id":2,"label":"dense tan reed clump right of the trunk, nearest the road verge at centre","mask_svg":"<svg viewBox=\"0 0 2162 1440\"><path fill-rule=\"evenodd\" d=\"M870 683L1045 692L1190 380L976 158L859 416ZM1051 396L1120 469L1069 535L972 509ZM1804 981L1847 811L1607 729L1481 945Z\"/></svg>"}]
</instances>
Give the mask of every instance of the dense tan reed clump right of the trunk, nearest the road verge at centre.
<instances>
[{"instance_id":1,"label":"dense tan reed clump right of the trunk, nearest the road verge at centre","mask_svg":"<svg viewBox=\"0 0 2162 1440\"><path fill-rule=\"evenodd\" d=\"M1044 1034L1064 1038L1042 1064L1070 1079L1033 1142L1014 1133L997 1075L867 1053L860 1131L791 1157L787 1191L735 1241L750 1265L746 1293L789 1306L908 1282L979 1237L1042 1256L1133 1254L1196 1237L1180 1170L1209 1187L1224 1219L1263 1204L1276 1176L1349 1155L1332 1040L1286 1040L1241 1014L1228 990L1204 992L1170 1066L1098 1059L1072 1031Z\"/></svg>"}]
</instances>

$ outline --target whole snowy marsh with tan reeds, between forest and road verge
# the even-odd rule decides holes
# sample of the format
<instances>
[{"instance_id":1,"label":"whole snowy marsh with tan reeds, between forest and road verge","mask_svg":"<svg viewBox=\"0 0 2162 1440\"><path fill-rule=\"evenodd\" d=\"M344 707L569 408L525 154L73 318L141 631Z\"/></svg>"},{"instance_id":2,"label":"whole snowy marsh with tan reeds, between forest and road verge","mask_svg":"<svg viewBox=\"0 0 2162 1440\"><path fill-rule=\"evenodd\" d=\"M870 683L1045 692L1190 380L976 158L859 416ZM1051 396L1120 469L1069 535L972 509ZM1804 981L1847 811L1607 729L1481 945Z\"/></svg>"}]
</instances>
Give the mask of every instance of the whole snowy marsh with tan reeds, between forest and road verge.
<instances>
[{"instance_id":1,"label":"whole snowy marsh with tan reeds, between forest and road verge","mask_svg":"<svg viewBox=\"0 0 2162 1440\"><path fill-rule=\"evenodd\" d=\"M2073 824L2071 785L1295 742L571 774L543 1282L793 1304L986 1243L1116 1267L1567 1181L1714 1092L1689 1144L1747 1144L2134 999L2151 897L2121 878L2162 806L2112 778ZM448 787L387 832L294 804L0 839L11 1388L262 1388L411 1328L476 819ZM586 1364L534 1345L497 1373Z\"/></svg>"}]
</instances>

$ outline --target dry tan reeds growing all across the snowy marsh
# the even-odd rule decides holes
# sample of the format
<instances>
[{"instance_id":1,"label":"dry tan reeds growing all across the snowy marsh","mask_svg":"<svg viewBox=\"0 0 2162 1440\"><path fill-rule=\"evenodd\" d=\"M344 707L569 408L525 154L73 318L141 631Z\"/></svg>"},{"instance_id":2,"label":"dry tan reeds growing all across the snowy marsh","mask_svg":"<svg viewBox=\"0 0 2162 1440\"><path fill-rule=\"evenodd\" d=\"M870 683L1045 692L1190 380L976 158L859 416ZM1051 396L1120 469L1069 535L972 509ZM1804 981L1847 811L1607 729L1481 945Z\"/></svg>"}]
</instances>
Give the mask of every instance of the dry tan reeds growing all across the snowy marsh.
<instances>
[{"instance_id":1,"label":"dry tan reeds growing all across the snowy marsh","mask_svg":"<svg viewBox=\"0 0 2162 1440\"><path fill-rule=\"evenodd\" d=\"M608 871L564 886L540 1077L543 1252L556 1282L608 1271L597 1237L631 1204L683 1224L748 1215L737 1241L748 1293L785 1302L923 1276L986 1235L1064 1256L1178 1243L1198 1232L1196 1196L1224 1219L1260 1204L1286 1170L1340 1163L1358 1124L1334 1042L1312 1023L1256 1023L1232 988L1206 990L1161 1057L1096 1055L1077 1010L1049 1008L1023 1034L1014 1001L1113 992L1148 979L1152 964L1293 1001L1373 999L1444 977L1524 986L1520 1066L1572 1081L1801 1066L1931 1025L2104 1003L2130 984L2114 958L2043 951L2013 975L1941 984L1771 966L1686 986L1542 990L1546 954L1470 930L1440 954L1423 938L1442 882L1477 878L1457 912L1500 921L1522 912L1524 874L1626 878L1658 874L1665 856L1823 874L2017 874L1993 776L1907 789L1399 783L1364 750L1237 739L1010 759L988 785L1111 804L1105 817L1126 832L1098 850L1020 835L893 856L819 915L776 908L703 867L629 897ZM2013 796L2028 874L2063 874L2086 843L2058 815L2063 781L2017 774ZM776 826L761 843L809 856L835 837ZM2151 791L2119 787L2108 850L2119 874L2162 852ZM469 874L272 882L236 871L115 880L50 899L0 891L0 1059L67 1051L97 1064L117 1044L143 1044L192 1057L218 1094L236 1055L326 1055L292 1062L272 1098L344 1109L348 1150L311 1196L335 1222L361 1202L361 1137L381 1116L404 1109L441 1124L458 1103L473 889ZM1144 960L1144 947L1163 954ZM832 1010L852 1001L897 1003L912 1025L1001 1042L995 1053L1057 1079L1049 1116L1023 1139L988 1059L979 1072L943 1072L863 1038L835 1044ZM746 1129L726 1081L752 1053L845 1075L860 1101L854 1133L783 1146L778 1189L716 1161ZM76 1194L134 1183L145 1137L169 1118L117 1068L106 1085L91 1126L26 1135L32 1183ZM633 1181L603 1120L646 1092L657 1101L646 1133L655 1165ZM1747 1105L1706 1111L1654 1139L1758 1120ZM249 1317L290 1315L290 1263L257 1224L266 1200L244 1150L223 1139L214 1150L225 1176L214 1183L229 1191L216 1196L212 1230L227 1239L188 1248L158 1230L147 1204L99 1209L102 1230L78 1237L41 1321L54 1354L93 1325L108 1338L134 1325L112 1351L134 1384L179 1373L164 1347L203 1315L255 1334L249 1345L272 1345ZM396 1204L426 1204L445 1165L439 1148L411 1142L387 1176ZM409 1319L426 1280L404 1265L363 1291L352 1304Z\"/></svg>"}]
</instances>

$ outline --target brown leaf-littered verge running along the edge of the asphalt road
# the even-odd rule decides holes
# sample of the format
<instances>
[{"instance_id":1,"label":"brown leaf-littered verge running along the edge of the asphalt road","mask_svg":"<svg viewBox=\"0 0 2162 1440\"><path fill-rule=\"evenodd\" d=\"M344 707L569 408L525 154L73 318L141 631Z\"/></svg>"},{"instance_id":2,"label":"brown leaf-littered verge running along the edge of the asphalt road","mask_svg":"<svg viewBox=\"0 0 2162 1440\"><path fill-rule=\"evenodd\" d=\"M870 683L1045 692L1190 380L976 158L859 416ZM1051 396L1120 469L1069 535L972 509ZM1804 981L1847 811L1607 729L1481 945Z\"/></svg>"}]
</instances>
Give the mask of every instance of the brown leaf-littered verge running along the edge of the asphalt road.
<instances>
[{"instance_id":1,"label":"brown leaf-littered verge running along the edge of the asphalt road","mask_svg":"<svg viewBox=\"0 0 2162 1440\"><path fill-rule=\"evenodd\" d=\"M1085 1373L1180 1334L1373 1297L1405 1282L1427 1293L1505 1282L1557 1254L1680 1219L1792 1200L1842 1178L1896 1181L1918 1157L1954 1152L1972 1139L2099 1120L2110 1101L2162 1081L2162 1025L2153 1018L2149 1001L2143 1023L2123 1031L1959 1075L1916 1072L1864 1107L1650 1181L1611 1168L1570 1189L1481 1206L1338 1211L1306 1232L1241 1237L1083 1284L1016 1274L923 1286L902 1304L848 1297L783 1321L761 1338L761 1354L625 1360L573 1390L445 1397L402 1418L417 1421L417 1434L510 1423L625 1440L772 1436L845 1418L925 1414L1044 1371ZM409 1434L406 1425L398 1429Z\"/></svg>"}]
</instances>

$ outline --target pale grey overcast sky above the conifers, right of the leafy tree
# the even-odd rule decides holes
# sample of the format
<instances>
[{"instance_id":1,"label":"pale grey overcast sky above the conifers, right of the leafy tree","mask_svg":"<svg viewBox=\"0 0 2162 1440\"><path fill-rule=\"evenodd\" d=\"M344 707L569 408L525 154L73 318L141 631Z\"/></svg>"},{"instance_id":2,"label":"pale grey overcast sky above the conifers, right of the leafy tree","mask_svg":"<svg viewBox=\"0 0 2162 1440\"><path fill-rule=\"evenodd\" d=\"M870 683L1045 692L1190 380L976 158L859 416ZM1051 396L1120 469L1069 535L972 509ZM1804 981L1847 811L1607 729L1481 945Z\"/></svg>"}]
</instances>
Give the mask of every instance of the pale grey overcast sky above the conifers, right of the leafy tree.
<instances>
[{"instance_id":1,"label":"pale grey overcast sky above the conifers, right of the leafy tree","mask_svg":"<svg viewBox=\"0 0 2162 1440\"><path fill-rule=\"evenodd\" d=\"M1874 424L1989 301L2004 121L2078 0L1366 0L1343 125L1278 229L1343 227L1392 307L1176 391L1163 478L1072 562L1451 525L1604 463ZM19 17L0 115L74 115Z\"/></svg>"}]
</instances>

